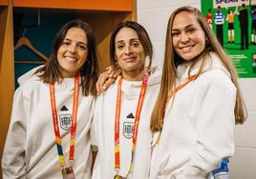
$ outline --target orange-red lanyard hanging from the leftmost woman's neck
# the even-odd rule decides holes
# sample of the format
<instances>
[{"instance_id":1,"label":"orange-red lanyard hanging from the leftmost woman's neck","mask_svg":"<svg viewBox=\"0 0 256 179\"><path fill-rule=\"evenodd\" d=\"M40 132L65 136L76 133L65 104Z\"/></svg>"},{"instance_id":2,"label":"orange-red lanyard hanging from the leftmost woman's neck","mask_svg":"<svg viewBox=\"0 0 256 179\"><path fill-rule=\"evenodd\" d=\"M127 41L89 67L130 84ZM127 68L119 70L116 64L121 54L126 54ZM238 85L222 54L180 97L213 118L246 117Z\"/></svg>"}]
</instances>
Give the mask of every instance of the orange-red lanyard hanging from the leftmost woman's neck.
<instances>
[{"instance_id":1,"label":"orange-red lanyard hanging from the leftmost woman's neck","mask_svg":"<svg viewBox=\"0 0 256 179\"><path fill-rule=\"evenodd\" d=\"M71 163L74 162L74 154L75 154L75 130L76 130L76 115L77 115L77 107L78 107L78 93L79 93L79 77L78 75L75 76L75 90L73 96L73 120L72 120L72 127L71 127L71 139L70 139L70 156L69 160ZM58 152L58 161L60 166L64 169L65 168L65 159L63 157L63 149L61 146L61 137L58 128L58 119L57 119L57 110L56 110L56 102L55 102L55 90L54 85L50 84L50 96L51 96L51 107L52 107L52 114L53 114L53 128L55 134L55 143Z\"/></svg>"}]
</instances>

